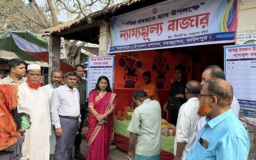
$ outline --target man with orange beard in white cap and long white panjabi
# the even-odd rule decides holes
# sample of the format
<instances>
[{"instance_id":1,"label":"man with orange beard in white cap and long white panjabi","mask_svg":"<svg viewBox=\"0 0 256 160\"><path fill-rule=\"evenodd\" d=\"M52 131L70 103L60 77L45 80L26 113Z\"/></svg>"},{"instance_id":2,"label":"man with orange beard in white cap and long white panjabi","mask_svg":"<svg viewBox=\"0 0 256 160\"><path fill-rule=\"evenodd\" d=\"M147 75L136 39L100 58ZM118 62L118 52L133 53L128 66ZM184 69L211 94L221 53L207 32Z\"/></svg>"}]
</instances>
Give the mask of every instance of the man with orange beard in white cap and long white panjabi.
<instances>
[{"instance_id":1,"label":"man with orange beard in white cap and long white panjabi","mask_svg":"<svg viewBox=\"0 0 256 160\"><path fill-rule=\"evenodd\" d=\"M19 85L18 112L29 114L32 125L26 130L20 160L49 160L51 120L48 96L40 87L40 65L29 64L26 77L27 81Z\"/></svg>"}]
</instances>

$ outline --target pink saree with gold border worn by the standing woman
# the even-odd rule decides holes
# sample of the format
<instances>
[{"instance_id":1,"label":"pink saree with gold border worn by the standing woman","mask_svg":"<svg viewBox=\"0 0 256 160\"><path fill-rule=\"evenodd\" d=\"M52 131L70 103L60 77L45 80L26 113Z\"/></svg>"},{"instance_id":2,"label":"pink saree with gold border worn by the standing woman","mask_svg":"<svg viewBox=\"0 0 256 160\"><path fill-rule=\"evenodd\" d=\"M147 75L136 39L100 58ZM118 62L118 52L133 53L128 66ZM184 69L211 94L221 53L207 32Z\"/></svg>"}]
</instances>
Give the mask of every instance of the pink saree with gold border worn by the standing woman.
<instances>
[{"instance_id":1,"label":"pink saree with gold border worn by the standing woman","mask_svg":"<svg viewBox=\"0 0 256 160\"><path fill-rule=\"evenodd\" d=\"M89 96L89 105L94 106L94 109L99 114L104 114L111 107L115 108L116 94L107 92L99 96L98 91L93 91ZM86 160L108 160L109 142L114 138L114 113L108 115L108 124L103 126L98 125L97 119L90 114L88 116L88 134L86 141L89 146Z\"/></svg>"}]
</instances>

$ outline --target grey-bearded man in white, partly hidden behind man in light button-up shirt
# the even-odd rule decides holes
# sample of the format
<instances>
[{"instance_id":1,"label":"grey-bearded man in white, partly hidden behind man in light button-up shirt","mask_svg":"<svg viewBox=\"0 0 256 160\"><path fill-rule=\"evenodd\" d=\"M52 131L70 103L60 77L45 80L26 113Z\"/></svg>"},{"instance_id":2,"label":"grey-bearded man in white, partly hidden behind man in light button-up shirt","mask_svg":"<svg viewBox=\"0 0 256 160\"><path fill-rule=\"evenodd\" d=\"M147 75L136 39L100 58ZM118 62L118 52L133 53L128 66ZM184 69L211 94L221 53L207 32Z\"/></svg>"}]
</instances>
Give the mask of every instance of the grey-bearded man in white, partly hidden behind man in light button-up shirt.
<instances>
[{"instance_id":1,"label":"grey-bearded man in white, partly hidden behind man in light button-up shirt","mask_svg":"<svg viewBox=\"0 0 256 160\"><path fill-rule=\"evenodd\" d=\"M43 86L42 88L47 92L49 109L52 108L52 93L53 91L61 85L62 80L62 71L61 70L52 70L51 72L51 83ZM50 113L51 116L51 113ZM52 117L51 117L52 118ZM54 134L53 125L51 125L52 135L50 135L50 154L52 160L54 160L54 151L56 145L56 136Z\"/></svg>"}]
</instances>

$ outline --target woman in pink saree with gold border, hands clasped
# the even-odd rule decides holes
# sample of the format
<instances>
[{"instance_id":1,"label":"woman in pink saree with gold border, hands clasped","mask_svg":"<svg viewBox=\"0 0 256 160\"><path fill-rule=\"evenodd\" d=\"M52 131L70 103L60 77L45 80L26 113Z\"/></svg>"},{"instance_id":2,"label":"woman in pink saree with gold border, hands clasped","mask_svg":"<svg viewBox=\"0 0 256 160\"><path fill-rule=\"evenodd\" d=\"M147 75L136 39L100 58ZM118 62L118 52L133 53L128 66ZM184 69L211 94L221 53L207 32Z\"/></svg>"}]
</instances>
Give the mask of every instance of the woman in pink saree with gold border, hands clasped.
<instances>
[{"instance_id":1,"label":"woman in pink saree with gold border, hands clasped","mask_svg":"<svg viewBox=\"0 0 256 160\"><path fill-rule=\"evenodd\" d=\"M88 134L86 160L108 160L110 140L114 136L116 94L112 93L108 77L101 76L89 94ZM106 124L107 123L107 124Z\"/></svg>"}]
</instances>

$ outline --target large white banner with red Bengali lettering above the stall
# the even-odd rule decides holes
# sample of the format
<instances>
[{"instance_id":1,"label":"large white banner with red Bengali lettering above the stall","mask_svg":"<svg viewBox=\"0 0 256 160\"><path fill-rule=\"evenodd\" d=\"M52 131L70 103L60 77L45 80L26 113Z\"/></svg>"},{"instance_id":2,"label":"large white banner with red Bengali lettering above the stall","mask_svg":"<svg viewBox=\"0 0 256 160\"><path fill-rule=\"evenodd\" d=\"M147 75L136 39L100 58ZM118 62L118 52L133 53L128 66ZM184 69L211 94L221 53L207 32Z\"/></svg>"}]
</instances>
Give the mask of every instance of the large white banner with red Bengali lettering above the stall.
<instances>
[{"instance_id":1,"label":"large white banner with red Bengali lettering above the stall","mask_svg":"<svg viewBox=\"0 0 256 160\"><path fill-rule=\"evenodd\" d=\"M235 41L236 0L169 0L111 19L108 53Z\"/></svg>"}]
</instances>

